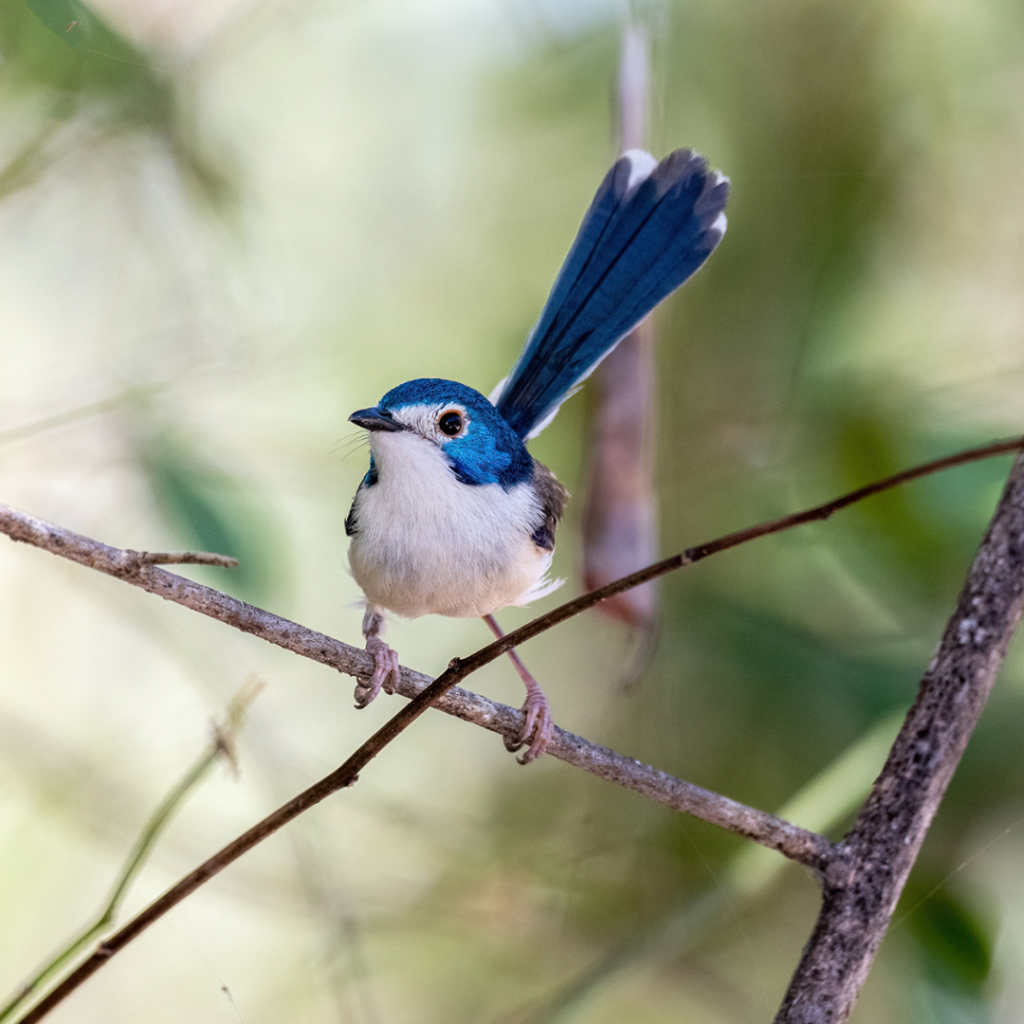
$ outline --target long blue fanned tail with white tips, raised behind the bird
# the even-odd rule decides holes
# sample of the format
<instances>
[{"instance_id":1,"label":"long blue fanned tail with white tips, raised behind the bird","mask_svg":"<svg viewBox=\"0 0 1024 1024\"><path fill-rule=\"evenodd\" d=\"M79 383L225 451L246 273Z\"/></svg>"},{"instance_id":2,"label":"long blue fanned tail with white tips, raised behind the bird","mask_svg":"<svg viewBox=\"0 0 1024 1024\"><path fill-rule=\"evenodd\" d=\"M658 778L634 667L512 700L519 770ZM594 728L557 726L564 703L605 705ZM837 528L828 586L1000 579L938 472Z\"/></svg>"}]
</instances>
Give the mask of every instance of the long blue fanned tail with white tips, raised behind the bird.
<instances>
[{"instance_id":1,"label":"long blue fanned tail with white tips, raised behind the bird","mask_svg":"<svg viewBox=\"0 0 1024 1024\"><path fill-rule=\"evenodd\" d=\"M725 233L729 179L692 150L640 150L608 171L565 257L498 411L532 437L608 352L699 269Z\"/></svg>"}]
</instances>

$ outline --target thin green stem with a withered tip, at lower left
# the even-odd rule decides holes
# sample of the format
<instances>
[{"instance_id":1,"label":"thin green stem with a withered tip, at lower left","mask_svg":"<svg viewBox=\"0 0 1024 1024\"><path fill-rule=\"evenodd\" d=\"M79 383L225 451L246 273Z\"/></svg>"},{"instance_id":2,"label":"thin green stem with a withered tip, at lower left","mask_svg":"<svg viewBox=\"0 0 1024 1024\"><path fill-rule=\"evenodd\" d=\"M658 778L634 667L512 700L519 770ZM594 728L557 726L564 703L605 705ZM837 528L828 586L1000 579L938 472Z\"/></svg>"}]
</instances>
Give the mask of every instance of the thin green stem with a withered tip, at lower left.
<instances>
[{"instance_id":1,"label":"thin green stem with a withered tip, at lower left","mask_svg":"<svg viewBox=\"0 0 1024 1024\"><path fill-rule=\"evenodd\" d=\"M10 998L10 1000L0 1009L0 1022L8 1020L11 1015L22 1007L26 1000L38 991L50 978L57 974L66 965L81 952L93 939L101 935L117 916L121 904L124 902L128 889L134 882L135 877L142 869L151 850L174 816L181 807L188 795L200 782L209 774L214 764L226 757L233 763L233 739L241 727L245 714L249 706L255 699L259 687L251 681L243 684L238 694L227 708L222 725L215 726L214 736L210 744L203 752L191 767L181 776L178 783L164 798L163 803L154 811L150 820L145 823L135 846L128 859L125 861L121 874L114 883L111 896L106 905L99 912L96 920L86 929L73 938L52 959L43 965L36 975L23 985L23 987Z\"/></svg>"}]
</instances>

